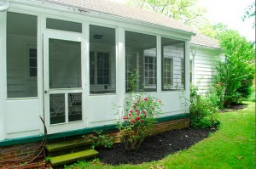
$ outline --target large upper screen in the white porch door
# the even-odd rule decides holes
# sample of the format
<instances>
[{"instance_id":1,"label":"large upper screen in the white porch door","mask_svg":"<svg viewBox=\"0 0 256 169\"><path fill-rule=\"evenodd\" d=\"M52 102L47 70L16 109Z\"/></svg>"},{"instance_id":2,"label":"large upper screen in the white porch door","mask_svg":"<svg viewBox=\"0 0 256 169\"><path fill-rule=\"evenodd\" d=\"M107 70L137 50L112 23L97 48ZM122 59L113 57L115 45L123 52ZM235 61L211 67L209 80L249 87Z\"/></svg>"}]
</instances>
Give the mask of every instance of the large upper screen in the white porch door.
<instances>
[{"instance_id":1,"label":"large upper screen in the white porch door","mask_svg":"<svg viewBox=\"0 0 256 169\"><path fill-rule=\"evenodd\" d=\"M49 39L49 88L81 87L81 42Z\"/></svg>"}]
</instances>

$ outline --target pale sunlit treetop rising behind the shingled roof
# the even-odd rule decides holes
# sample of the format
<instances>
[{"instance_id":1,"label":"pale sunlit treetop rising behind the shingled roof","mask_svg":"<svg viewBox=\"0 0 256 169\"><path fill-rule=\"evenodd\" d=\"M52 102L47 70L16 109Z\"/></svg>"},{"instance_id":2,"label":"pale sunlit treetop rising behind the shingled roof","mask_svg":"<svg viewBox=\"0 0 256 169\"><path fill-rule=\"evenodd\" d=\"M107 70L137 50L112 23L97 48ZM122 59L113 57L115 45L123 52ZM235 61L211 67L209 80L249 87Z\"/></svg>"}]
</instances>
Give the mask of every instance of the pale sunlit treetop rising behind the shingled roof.
<instances>
[{"instance_id":1,"label":"pale sunlit treetop rising behind the shingled roof","mask_svg":"<svg viewBox=\"0 0 256 169\"><path fill-rule=\"evenodd\" d=\"M165 14L192 27L197 27L206 20L206 9L197 7L196 2L197 0L127 0L130 6Z\"/></svg>"}]
</instances>

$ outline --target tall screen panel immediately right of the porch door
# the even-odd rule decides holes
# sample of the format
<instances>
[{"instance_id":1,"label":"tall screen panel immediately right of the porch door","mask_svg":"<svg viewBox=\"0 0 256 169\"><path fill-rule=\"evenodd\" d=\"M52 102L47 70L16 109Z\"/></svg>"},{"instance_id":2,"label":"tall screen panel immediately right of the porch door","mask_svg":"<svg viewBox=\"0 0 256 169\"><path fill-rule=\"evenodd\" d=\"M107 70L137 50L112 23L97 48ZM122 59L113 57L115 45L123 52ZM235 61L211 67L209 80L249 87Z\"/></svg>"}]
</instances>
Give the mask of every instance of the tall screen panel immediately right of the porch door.
<instances>
[{"instance_id":1,"label":"tall screen panel immediately right of the porch door","mask_svg":"<svg viewBox=\"0 0 256 169\"><path fill-rule=\"evenodd\" d=\"M90 93L115 93L115 30L90 25Z\"/></svg>"}]
</instances>

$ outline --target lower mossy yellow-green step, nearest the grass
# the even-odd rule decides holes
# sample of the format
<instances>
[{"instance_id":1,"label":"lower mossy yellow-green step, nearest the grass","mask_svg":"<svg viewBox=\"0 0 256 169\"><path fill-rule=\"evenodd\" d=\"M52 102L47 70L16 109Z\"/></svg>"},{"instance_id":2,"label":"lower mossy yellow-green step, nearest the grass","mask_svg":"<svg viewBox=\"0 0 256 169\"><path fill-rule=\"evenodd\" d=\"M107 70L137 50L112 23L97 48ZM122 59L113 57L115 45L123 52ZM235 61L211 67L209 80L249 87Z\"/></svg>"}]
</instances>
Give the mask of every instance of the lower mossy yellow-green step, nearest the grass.
<instances>
[{"instance_id":1,"label":"lower mossy yellow-green step, nearest the grass","mask_svg":"<svg viewBox=\"0 0 256 169\"><path fill-rule=\"evenodd\" d=\"M52 166L61 166L74 161L90 159L96 157L98 154L99 152L97 152L95 149L86 149L84 151L79 151L73 154L50 157L49 162Z\"/></svg>"}]
</instances>

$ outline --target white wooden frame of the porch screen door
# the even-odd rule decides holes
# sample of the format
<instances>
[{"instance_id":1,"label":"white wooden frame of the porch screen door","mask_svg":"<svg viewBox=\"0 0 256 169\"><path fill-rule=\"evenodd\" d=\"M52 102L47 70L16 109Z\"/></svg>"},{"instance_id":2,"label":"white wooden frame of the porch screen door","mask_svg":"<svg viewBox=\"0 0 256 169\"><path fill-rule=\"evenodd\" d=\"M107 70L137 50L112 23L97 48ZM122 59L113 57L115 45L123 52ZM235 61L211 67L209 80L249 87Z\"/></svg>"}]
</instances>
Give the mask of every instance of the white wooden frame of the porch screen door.
<instances>
[{"instance_id":1,"label":"white wooden frame of the porch screen door","mask_svg":"<svg viewBox=\"0 0 256 169\"><path fill-rule=\"evenodd\" d=\"M49 89L49 39L58 39L58 40L66 40L73 42L80 42L81 44L81 87L75 88L53 88ZM47 30L44 31L44 40L43 40L43 82L44 82L44 121L47 127L47 132L49 134L57 133L57 132L67 132L72 130L77 130L84 128L85 126L85 118L84 118L84 107L85 107L85 78L84 78L84 68L85 60L84 60L84 38L83 34L67 32L67 31L54 31ZM68 100L68 93L82 93L82 120L81 121L70 121L68 122L68 105L65 104L65 122L58 124L50 124L50 115L49 115L49 94L63 93L65 95L65 103Z\"/></svg>"}]
</instances>

